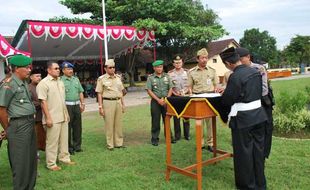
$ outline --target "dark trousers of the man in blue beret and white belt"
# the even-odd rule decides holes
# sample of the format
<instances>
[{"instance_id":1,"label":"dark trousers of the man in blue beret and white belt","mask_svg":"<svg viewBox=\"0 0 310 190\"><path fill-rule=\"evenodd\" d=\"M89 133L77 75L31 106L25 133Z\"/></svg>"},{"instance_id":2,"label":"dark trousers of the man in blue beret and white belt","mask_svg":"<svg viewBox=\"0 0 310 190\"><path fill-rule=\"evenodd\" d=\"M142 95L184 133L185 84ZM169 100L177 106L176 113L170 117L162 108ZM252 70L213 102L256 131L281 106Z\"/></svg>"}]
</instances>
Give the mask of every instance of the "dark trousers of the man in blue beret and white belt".
<instances>
[{"instance_id":1,"label":"dark trousers of the man in blue beret and white belt","mask_svg":"<svg viewBox=\"0 0 310 190\"><path fill-rule=\"evenodd\" d=\"M69 151L80 150L82 144L82 120L80 105L67 105L70 122L68 124Z\"/></svg>"}]
</instances>

